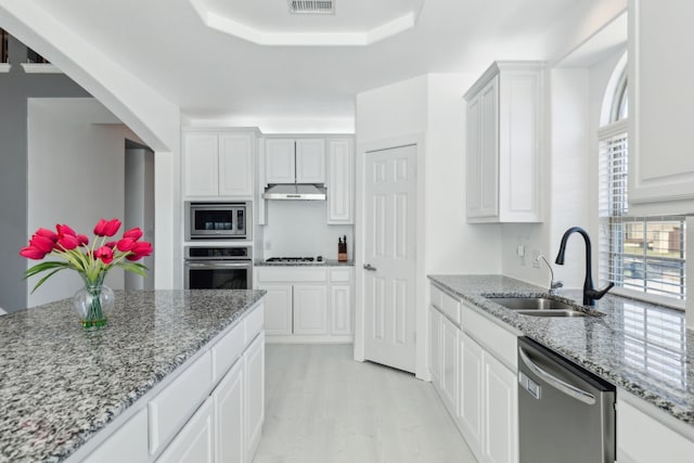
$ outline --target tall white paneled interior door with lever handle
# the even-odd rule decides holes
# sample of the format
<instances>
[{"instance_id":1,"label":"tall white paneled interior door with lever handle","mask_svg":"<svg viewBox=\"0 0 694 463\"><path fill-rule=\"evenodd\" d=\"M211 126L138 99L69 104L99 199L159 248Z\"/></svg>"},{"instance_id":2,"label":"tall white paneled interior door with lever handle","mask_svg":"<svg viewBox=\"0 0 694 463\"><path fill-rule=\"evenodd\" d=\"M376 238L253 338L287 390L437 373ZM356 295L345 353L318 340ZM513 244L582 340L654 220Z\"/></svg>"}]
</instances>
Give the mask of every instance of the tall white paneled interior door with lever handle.
<instances>
[{"instance_id":1,"label":"tall white paneled interior door with lever handle","mask_svg":"<svg viewBox=\"0 0 694 463\"><path fill-rule=\"evenodd\" d=\"M365 153L364 358L415 371L416 145Z\"/></svg>"}]
</instances>

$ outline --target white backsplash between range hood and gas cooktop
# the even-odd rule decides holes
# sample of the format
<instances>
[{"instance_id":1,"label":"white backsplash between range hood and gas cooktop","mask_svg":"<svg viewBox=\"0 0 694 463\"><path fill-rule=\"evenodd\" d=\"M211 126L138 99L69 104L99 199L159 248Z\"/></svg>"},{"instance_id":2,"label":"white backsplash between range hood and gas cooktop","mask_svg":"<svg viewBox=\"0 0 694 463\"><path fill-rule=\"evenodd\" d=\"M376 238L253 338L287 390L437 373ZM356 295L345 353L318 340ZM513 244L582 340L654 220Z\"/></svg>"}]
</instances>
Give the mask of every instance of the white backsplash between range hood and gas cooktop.
<instances>
[{"instance_id":1,"label":"white backsplash between range hood and gas cooktop","mask_svg":"<svg viewBox=\"0 0 694 463\"><path fill-rule=\"evenodd\" d=\"M347 256L354 258L355 228L329 226L324 201L268 201L264 258L316 257L337 259L337 239L347 236Z\"/></svg>"}]
</instances>

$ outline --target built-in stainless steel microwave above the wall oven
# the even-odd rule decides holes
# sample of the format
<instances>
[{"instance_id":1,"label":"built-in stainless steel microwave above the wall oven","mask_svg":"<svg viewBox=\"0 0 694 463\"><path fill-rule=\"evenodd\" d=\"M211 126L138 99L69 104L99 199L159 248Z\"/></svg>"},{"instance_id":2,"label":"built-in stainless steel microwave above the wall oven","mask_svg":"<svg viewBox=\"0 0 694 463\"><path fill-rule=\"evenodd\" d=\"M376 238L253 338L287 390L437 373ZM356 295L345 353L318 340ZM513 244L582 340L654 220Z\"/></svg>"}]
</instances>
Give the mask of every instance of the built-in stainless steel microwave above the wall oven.
<instances>
[{"instance_id":1,"label":"built-in stainless steel microwave above the wall oven","mask_svg":"<svg viewBox=\"0 0 694 463\"><path fill-rule=\"evenodd\" d=\"M187 240L252 240L250 203L185 203Z\"/></svg>"}]
</instances>

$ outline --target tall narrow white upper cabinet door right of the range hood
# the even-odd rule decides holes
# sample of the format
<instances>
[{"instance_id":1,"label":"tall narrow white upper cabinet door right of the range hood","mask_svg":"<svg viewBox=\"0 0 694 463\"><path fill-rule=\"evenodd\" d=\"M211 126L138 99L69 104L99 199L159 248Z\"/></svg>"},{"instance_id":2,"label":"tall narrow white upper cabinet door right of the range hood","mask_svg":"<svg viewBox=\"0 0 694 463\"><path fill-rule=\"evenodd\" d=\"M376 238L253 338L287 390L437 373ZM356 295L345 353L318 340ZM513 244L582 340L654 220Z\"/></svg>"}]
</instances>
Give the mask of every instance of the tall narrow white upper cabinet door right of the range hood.
<instances>
[{"instance_id":1,"label":"tall narrow white upper cabinet door right of the range hood","mask_svg":"<svg viewBox=\"0 0 694 463\"><path fill-rule=\"evenodd\" d=\"M327 157L327 223L354 223L355 154L351 140L329 140Z\"/></svg>"}]
</instances>

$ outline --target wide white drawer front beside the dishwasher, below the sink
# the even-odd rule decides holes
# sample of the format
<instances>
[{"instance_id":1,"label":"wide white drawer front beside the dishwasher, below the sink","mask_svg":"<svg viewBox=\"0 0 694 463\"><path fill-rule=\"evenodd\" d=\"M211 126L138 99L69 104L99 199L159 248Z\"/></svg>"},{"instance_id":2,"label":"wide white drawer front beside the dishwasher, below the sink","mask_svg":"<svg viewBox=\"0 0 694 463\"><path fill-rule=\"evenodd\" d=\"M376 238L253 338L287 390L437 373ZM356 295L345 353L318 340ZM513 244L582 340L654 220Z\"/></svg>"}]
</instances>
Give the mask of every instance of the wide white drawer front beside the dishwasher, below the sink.
<instances>
[{"instance_id":1,"label":"wide white drawer front beside the dishwasher, below the sink","mask_svg":"<svg viewBox=\"0 0 694 463\"><path fill-rule=\"evenodd\" d=\"M462 326L470 337L477 340L514 373L518 371L515 334L504 330L466 305L463 306L462 310Z\"/></svg>"}]
</instances>

